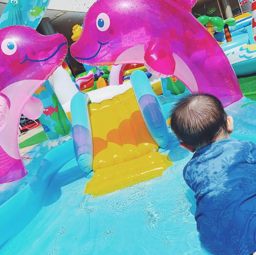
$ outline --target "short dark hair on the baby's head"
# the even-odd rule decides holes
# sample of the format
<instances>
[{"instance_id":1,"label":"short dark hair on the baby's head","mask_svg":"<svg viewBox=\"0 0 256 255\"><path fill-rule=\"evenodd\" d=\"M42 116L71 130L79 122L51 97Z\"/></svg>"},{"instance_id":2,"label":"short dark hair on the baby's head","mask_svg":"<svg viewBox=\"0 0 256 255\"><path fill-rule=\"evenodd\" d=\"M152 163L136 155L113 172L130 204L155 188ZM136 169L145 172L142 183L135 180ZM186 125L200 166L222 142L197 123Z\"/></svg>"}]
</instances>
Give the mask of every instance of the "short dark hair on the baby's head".
<instances>
[{"instance_id":1,"label":"short dark hair on the baby's head","mask_svg":"<svg viewBox=\"0 0 256 255\"><path fill-rule=\"evenodd\" d=\"M216 96L190 94L175 103L170 125L180 141L196 150L211 144L221 132L228 133L227 114Z\"/></svg>"}]
</instances>

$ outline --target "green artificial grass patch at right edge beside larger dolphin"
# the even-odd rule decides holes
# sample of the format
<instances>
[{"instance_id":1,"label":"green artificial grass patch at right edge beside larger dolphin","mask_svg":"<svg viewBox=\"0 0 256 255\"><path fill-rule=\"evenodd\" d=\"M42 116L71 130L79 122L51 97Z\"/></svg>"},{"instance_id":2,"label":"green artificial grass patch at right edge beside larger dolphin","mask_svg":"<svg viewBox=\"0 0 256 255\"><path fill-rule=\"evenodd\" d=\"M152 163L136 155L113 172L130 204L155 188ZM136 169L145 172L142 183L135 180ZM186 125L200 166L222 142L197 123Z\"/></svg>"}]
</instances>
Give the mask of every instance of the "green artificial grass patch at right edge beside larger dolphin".
<instances>
[{"instance_id":1,"label":"green artificial grass patch at right edge beside larger dolphin","mask_svg":"<svg viewBox=\"0 0 256 255\"><path fill-rule=\"evenodd\" d=\"M238 77L238 81L243 94L247 98L256 101L256 74Z\"/></svg>"}]
</instances>

